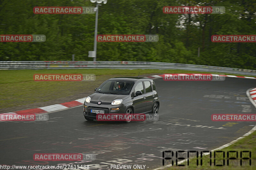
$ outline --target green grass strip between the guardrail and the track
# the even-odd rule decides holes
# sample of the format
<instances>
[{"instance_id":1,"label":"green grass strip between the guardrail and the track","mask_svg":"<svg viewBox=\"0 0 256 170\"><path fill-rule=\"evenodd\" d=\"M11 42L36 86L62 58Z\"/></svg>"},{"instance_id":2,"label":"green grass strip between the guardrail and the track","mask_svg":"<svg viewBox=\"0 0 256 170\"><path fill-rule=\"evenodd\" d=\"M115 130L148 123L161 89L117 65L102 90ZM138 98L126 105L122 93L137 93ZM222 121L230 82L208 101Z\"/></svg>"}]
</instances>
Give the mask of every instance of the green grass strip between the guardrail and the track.
<instances>
[{"instance_id":1,"label":"green grass strip between the guardrail and the track","mask_svg":"<svg viewBox=\"0 0 256 170\"><path fill-rule=\"evenodd\" d=\"M207 73L185 70L156 69L39 69L0 70L0 108L29 103L49 101L93 90L108 78L118 76L138 76L142 74ZM34 81L34 74L95 74L96 81ZM228 74L238 75L238 74ZM242 76L242 75L240 75Z\"/></svg>"}]
</instances>

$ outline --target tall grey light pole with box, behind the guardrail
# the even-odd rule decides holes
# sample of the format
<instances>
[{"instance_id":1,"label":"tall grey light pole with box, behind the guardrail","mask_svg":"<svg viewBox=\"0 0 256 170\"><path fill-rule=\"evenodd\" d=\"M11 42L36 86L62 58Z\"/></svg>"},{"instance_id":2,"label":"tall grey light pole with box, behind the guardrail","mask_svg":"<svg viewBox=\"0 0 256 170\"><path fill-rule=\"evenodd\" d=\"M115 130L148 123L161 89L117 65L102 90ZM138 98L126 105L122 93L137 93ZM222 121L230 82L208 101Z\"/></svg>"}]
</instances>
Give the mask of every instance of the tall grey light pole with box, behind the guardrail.
<instances>
[{"instance_id":1,"label":"tall grey light pole with box, behind the guardrail","mask_svg":"<svg viewBox=\"0 0 256 170\"><path fill-rule=\"evenodd\" d=\"M94 11L96 11L95 16L95 31L94 31L94 45L93 45L93 51L89 51L88 57L93 57L93 61L96 61L96 54L97 54L97 35L98 35L98 15L99 15L99 4L103 2L103 4L107 4L108 0L90 0L92 3L96 3L96 8L94 8Z\"/></svg>"}]
</instances>

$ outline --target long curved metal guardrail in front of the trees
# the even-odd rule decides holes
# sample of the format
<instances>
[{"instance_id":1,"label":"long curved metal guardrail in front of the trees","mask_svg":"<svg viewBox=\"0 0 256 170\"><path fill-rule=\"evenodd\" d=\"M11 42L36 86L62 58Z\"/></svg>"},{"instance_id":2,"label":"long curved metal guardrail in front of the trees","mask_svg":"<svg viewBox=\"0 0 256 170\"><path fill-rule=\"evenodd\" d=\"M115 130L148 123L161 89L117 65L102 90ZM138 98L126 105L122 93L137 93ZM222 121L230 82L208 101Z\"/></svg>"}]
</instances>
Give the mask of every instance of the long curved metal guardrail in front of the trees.
<instances>
[{"instance_id":1,"label":"long curved metal guardrail in front of the trees","mask_svg":"<svg viewBox=\"0 0 256 170\"><path fill-rule=\"evenodd\" d=\"M256 76L256 70L239 68L202 66L191 64L139 62L139 61L0 61L0 69L72 69L72 68L112 68L112 69L179 69Z\"/></svg>"}]
</instances>

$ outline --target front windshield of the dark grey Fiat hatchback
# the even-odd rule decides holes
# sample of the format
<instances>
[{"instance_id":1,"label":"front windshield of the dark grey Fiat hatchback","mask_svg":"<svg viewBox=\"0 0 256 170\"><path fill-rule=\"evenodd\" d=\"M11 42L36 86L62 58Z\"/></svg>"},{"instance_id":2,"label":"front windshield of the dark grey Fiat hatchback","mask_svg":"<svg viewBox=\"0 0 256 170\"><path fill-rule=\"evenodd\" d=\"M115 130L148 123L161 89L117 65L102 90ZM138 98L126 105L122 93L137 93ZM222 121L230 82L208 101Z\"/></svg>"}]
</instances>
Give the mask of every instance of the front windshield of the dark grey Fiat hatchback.
<instances>
[{"instance_id":1,"label":"front windshield of the dark grey Fiat hatchback","mask_svg":"<svg viewBox=\"0 0 256 170\"><path fill-rule=\"evenodd\" d=\"M128 95L130 94L133 85L134 82L131 81L108 80L101 84L96 92L116 95Z\"/></svg>"}]
</instances>

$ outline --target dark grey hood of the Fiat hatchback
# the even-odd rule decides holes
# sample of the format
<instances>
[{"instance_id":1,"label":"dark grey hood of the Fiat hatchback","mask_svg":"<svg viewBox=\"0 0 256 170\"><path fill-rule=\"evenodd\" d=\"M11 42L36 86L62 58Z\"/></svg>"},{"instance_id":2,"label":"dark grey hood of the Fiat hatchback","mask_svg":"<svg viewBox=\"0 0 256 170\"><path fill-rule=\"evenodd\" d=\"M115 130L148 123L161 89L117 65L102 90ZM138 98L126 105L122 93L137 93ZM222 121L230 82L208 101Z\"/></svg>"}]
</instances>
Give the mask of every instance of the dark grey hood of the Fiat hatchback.
<instances>
[{"instance_id":1,"label":"dark grey hood of the Fiat hatchback","mask_svg":"<svg viewBox=\"0 0 256 170\"><path fill-rule=\"evenodd\" d=\"M113 94L102 94L102 93L93 93L92 95L90 95L91 97L91 101L94 102L108 102L111 103L113 100L116 99L126 99L129 97L129 95L113 95Z\"/></svg>"}]
</instances>

